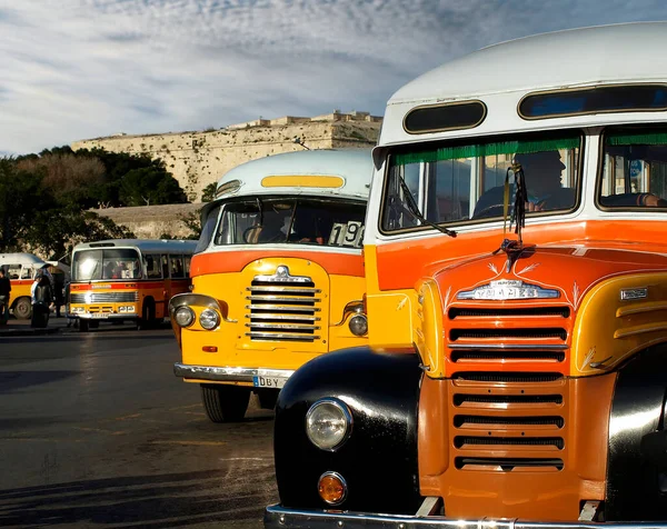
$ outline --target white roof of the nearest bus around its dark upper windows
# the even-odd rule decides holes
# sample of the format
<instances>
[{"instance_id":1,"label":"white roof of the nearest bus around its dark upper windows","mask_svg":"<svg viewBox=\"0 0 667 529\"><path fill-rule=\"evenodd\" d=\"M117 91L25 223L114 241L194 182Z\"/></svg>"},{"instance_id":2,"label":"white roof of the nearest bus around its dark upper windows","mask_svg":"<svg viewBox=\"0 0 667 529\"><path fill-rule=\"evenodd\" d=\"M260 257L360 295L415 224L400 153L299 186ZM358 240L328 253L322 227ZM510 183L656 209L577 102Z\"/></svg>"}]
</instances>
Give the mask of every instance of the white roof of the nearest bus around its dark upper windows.
<instances>
[{"instance_id":1,"label":"white roof of the nearest bus around its dark upper windows","mask_svg":"<svg viewBox=\"0 0 667 529\"><path fill-rule=\"evenodd\" d=\"M388 101L379 144L448 137L656 121L657 112L600 113L528 121L517 106L527 93L610 83L667 82L667 22L636 22L542 33L484 48L447 62L400 88ZM480 100L487 117L476 128L410 134L415 107Z\"/></svg>"}]
</instances>

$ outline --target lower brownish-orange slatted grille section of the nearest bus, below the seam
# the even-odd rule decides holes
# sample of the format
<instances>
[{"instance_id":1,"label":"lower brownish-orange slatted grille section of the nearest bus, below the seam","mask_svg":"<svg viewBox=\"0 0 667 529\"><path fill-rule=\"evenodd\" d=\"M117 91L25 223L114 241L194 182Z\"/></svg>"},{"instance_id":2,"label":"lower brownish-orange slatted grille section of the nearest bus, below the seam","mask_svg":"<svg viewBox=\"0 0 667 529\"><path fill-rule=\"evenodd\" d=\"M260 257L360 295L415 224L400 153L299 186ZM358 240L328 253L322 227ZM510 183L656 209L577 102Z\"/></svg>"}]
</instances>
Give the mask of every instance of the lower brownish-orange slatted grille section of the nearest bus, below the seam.
<instances>
[{"instance_id":1,"label":"lower brownish-orange slatted grille section of the nearest bus, below the seam","mask_svg":"<svg viewBox=\"0 0 667 529\"><path fill-rule=\"evenodd\" d=\"M569 396L559 373L467 372L449 383L449 428L458 470L565 468L564 410Z\"/></svg>"}]
</instances>

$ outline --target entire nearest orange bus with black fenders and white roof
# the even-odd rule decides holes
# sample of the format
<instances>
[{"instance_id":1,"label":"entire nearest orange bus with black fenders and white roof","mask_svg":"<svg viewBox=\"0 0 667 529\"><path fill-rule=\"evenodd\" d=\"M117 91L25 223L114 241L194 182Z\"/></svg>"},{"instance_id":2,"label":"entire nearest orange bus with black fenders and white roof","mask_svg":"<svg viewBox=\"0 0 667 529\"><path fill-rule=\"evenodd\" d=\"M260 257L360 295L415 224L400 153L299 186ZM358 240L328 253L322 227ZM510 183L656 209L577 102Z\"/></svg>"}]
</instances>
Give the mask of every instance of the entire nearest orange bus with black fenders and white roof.
<instances>
[{"instance_id":1,"label":"entire nearest orange bus with black fenders and white roof","mask_svg":"<svg viewBox=\"0 0 667 529\"><path fill-rule=\"evenodd\" d=\"M545 33L391 97L368 346L282 388L265 527L667 528L666 49Z\"/></svg>"}]
</instances>

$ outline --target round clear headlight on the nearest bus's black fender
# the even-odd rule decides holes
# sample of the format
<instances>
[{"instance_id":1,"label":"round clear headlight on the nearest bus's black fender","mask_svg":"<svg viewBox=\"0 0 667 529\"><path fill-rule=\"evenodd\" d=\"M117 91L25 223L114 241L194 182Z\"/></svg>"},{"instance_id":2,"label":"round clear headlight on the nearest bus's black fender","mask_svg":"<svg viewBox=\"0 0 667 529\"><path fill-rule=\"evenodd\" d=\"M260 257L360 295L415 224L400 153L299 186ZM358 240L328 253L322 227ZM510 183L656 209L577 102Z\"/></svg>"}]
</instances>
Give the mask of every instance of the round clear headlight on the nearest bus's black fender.
<instances>
[{"instance_id":1,"label":"round clear headlight on the nearest bus's black fender","mask_svg":"<svg viewBox=\"0 0 667 529\"><path fill-rule=\"evenodd\" d=\"M321 399L306 413L306 433L320 450L335 451L352 431L352 415L338 399Z\"/></svg>"}]
</instances>

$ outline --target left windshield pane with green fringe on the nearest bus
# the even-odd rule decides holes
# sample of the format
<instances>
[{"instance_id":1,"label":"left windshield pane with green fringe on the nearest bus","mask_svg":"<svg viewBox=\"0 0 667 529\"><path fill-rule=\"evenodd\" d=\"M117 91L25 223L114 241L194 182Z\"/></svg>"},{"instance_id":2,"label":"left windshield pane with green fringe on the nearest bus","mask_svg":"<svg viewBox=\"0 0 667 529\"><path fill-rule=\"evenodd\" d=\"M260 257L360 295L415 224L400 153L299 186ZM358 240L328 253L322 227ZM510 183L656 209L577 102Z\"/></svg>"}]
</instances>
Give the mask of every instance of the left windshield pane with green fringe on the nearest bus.
<instances>
[{"instance_id":1,"label":"left windshield pane with green fringe on the nearest bus","mask_svg":"<svg viewBox=\"0 0 667 529\"><path fill-rule=\"evenodd\" d=\"M419 228L407 206L410 191L419 212L432 223L498 220L504 216L505 179L520 163L528 189L527 212L570 210L579 188L578 133L495 142L458 143L419 151L397 150L390 158L382 206L382 229ZM412 146L414 149L414 146ZM514 176L509 174L509 208Z\"/></svg>"}]
</instances>

